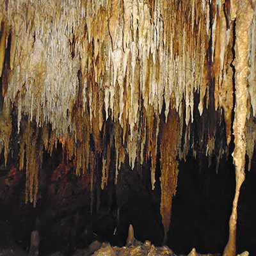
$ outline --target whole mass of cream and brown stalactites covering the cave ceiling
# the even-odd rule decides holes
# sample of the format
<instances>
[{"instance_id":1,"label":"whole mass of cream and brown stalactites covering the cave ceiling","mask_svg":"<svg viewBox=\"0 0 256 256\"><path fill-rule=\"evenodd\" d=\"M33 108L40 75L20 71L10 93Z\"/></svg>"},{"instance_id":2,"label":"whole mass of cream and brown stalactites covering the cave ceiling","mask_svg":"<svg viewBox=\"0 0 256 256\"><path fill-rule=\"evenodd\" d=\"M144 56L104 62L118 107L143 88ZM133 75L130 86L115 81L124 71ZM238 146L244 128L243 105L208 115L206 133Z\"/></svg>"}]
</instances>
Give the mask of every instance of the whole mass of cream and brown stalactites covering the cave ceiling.
<instances>
[{"instance_id":1,"label":"whole mass of cream and brown stalactites covering the cave ceiling","mask_svg":"<svg viewBox=\"0 0 256 256\"><path fill-rule=\"evenodd\" d=\"M234 132L235 164L242 140L241 156L246 149L250 166L256 141L255 13L255 0L1 0L0 152L8 164L16 111L26 201L36 204L43 152L51 154L58 143L77 175L90 175L91 191L97 161L104 189L111 161L117 182L125 157L132 169L150 161L154 189L159 152L167 232L178 159L186 159L189 148L220 161L231 154ZM239 29L247 30L246 44L236 36ZM243 81L234 75L243 69L241 49ZM246 84L243 102L236 101L234 83ZM214 121L191 132L195 112L205 118L212 109L218 113ZM223 120L220 147L216 127Z\"/></svg>"}]
</instances>

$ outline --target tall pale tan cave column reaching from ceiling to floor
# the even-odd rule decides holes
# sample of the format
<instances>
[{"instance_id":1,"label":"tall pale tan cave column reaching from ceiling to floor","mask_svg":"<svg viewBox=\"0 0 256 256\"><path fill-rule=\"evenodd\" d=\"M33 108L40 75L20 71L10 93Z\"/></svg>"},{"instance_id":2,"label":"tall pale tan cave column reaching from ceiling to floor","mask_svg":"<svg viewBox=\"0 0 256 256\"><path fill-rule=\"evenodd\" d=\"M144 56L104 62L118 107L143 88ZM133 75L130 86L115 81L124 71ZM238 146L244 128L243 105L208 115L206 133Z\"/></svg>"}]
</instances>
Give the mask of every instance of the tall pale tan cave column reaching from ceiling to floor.
<instances>
[{"instance_id":1,"label":"tall pale tan cave column reaching from ceiling to floor","mask_svg":"<svg viewBox=\"0 0 256 256\"><path fill-rule=\"evenodd\" d=\"M244 165L246 154L245 123L247 115L247 77L248 77L248 52L250 49L250 25L253 18L252 1L231 1L231 19L236 19L236 106L234 117L234 142L235 148L232 154L236 167L236 194L234 196L232 214L229 221L229 238L225 247L224 256L236 255L236 224L237 224L237 202L239 191L244 182ZM230 92L231 93L231 92Z\"/></svg>"}]
</instances>

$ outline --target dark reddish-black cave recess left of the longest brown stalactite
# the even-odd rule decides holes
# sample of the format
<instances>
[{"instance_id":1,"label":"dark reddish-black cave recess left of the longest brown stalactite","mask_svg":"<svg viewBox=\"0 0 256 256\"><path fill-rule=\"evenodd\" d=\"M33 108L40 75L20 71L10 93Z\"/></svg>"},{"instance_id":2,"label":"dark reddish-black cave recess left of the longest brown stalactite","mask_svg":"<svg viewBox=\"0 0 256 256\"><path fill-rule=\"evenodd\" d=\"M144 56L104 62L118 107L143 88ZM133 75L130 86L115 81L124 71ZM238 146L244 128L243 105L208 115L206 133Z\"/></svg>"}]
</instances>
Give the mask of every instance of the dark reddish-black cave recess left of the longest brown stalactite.
<instances>
[{"instance_id":1,"label":"dark reddish-black cave recess left of the longest brown stalactite","mask_svg":"<svg viewBox=\"0 0 256 256\"><path fill-rule=\"evenodd\" d=\"M72 164L63 163L61 145L54 148L51 156L47 152L44 154L35 208L25 204L26 172L8 170L7 176L0 179L0 225L4 237L0 247L18 246L28 253L33 230L40 234L40 255L54 252L72 255L96 239L124 246L130 223L134 226L136 239L160 245L163 226L158 204L159 179L152 191L150 163L136 166L131 170L127 163L122 165L118 185L113 181L115 168L111 168L108 186L102 190L99 164L93 212L90 175L77 177Z\"/></svg>"}]
</instances>

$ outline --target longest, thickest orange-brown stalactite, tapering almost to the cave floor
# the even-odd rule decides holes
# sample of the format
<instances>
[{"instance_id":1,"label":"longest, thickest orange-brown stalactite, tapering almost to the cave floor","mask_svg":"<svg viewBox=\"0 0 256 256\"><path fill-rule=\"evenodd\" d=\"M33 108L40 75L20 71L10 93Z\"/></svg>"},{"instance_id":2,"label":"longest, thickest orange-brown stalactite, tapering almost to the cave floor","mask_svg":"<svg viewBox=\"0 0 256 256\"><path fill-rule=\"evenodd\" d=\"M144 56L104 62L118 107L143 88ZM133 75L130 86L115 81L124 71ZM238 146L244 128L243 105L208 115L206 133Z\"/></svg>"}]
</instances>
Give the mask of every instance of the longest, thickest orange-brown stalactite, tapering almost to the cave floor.
<instances>
[{"instance_id":1,"label":"longest, thickest orange-brown stalactite, tapering almost to the cave floor","mask_svg":"<svg viewBox=\"0 0 256 256\"><path fill-rule=\"evenodd\" d=\"M167 122L162 125L160 144L161 216L166 239L170 227L172 197L176 192L179 173L177 155L180 144L180 122L175 109L169 111Z\"/></svg>"}]
</instances>

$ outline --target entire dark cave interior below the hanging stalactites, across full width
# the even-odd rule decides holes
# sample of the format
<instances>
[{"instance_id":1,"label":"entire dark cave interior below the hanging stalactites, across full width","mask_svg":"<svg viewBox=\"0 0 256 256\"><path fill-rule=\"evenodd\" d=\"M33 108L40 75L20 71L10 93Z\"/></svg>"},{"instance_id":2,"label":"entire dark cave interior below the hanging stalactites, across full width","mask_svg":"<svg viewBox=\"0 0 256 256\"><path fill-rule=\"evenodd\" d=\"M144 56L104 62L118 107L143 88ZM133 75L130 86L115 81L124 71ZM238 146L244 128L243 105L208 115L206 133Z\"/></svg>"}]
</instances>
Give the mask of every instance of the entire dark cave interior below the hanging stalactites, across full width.
<instances>
[{"instance_id":1,"label":"entire dark cave interior below the hanging stalactites, across full width","mask_svg":"<svg viewBox=\"0 0 256 256\"><path fill-rule=\"evenodd\" d=\"M253 159L255 159L255 154ZM166 244L176 253L222 252L228 239L228 218L232 209L235 175L232 157L221 159L216 172L214 160L199 162L190 152L179 163L177 193ZM198 168L200 166L200 168ZM54 172L52 172L54 170ZM101 170L97 171L99 180ZM113 180L110 173L109 180ZM131 170L123 164L118 184L109 182L95 189L93 207L86 175L77 177L72 166L63 164L59 145L52 157L45 154L36 208L24 204L24 172L11 171L0 177L1 237L0 247L13 241L28 250L32 230L40 231L40 253L61 251L70 255L94 239L124 246L129 223L140 241L163 243L163 225L159 213L161 189L157 172L156 189L150 186L148 166ZM8 179L8 182L4 180ZM237 221L237 252L256 253L256 163L241 188ZM22 193L20 193L22 191Z\"/></svg>"}]
</instances>

